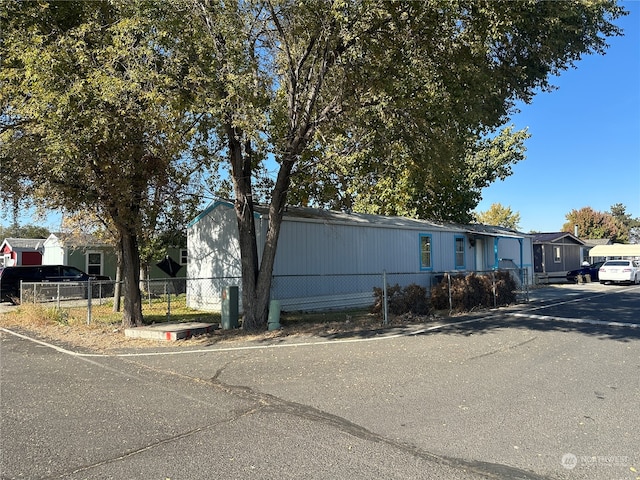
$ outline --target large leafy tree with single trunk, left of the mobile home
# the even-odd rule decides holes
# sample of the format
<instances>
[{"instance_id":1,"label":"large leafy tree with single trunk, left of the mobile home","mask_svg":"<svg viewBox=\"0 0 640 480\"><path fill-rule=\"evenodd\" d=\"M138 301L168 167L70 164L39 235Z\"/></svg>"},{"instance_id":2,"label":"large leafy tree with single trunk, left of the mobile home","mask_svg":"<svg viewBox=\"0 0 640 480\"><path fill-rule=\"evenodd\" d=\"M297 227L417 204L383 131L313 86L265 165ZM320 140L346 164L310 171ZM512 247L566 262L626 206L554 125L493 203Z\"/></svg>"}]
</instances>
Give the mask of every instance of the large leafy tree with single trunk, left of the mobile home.
<instances>
[{"instance_id":1,"label":"large leafy tree with single trunk, left of the mobile home","mask_svg":"<svg viewBox=\"0 0 640 480\"><path fill-rule=\"evenodd\" d=\"M135 0L5 1L0 11L3 181L113 227L125 326L142 323L145 217L182 175L177 162L198 133L195 46L180 43L193 43L188 30L172 35L167 19L176 17L171 2Z\"/></svg>"}]
</instances>

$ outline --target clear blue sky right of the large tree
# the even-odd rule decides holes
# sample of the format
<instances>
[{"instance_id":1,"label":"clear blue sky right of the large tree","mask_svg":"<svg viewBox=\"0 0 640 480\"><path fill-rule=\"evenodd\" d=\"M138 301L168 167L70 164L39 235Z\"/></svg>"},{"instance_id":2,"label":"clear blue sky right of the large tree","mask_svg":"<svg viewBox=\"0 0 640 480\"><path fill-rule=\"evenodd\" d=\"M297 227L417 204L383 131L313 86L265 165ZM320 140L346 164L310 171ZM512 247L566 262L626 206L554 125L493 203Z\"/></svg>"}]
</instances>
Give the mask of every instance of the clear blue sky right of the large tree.
<instances>
[{"instance_id":1,"label":"clear blue sky right of the large tree","mask_svg":"<svg viewBox=\"0 0 640 480\"><path fill-rule=\"evenodd\" d=\"M605 55L589 55L512 117L528 127L526 159L483 190L478 211L500 203L520 213L523 232L559 232L571 210L609 211L616 203L640 217L640 1L616 24Z\"/></svg>"}]
</instances>

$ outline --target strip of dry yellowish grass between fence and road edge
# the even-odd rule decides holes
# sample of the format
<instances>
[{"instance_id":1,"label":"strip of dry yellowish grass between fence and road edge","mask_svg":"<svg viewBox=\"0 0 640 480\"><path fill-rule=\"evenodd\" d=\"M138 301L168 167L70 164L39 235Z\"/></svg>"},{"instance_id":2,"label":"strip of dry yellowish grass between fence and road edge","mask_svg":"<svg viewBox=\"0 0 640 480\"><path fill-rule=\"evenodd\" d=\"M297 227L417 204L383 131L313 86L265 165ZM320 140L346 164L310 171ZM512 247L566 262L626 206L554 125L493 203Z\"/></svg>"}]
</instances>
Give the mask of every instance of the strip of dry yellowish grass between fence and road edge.
<instances>
[{"instance_id":1,"label":"strip of dry yellowish grass between fence and road edge","mask_svg":"<svg viewBox=\"0 0 640 480\"><path fill-rule=\"evenodd\" d=\"M172 310L171 322L218 323L220 316L202 312ZM361 334L362 332L420 324L433 321L436 317L414 315L396 316L389 325L382 325L379 316L366 311L283 314L282 328L274 331L246 332L242 329L215 330L208 335L193 337L177 342L133 339L124 336L121 314L113 313L109 305L97 306L92 312L92 321L87 324L84 308L46 307L42 305L21 305L11 312L0 314L0 326L26 331L39 338L57 344L96 352L113 352L122 349L148 349L166 347L206 346L219 343L264 341L281 337L333 336L340 334ZM166 312L147 311L145 322L167 321Z\"/></svg>"}]
</instances>

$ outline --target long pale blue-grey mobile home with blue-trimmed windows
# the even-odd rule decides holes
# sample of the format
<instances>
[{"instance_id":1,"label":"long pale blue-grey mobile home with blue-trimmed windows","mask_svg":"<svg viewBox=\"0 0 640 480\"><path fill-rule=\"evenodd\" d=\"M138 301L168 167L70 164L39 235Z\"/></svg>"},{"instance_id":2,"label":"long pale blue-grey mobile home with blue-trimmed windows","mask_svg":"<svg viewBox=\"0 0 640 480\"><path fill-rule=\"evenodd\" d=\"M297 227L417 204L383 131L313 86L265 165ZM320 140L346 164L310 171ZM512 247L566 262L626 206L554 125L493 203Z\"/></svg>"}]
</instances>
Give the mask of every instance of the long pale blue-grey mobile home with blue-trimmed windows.
<instances>
[{"instance_id":1,"label":"long pale blue-grey mobile home with blue-trimmed windows","mask_svg":"<svg viewBox=\"0 0 640 480\"><path fill-rule=\"evenodd\" d=\"M259 257L268 221L268 210L256 207ZM219 309L223 287L242 288L233 204L216 201L196 217L187 230L187 248L188 306ZM503 267L528 268L531 277L529 235L485 225L289 207L278 241L271 298L285 311L366 306L373 303L373 288L382 287L383 272L388 284L417 283L430 289L443 272Z\"/></svg>"}]
</instances>

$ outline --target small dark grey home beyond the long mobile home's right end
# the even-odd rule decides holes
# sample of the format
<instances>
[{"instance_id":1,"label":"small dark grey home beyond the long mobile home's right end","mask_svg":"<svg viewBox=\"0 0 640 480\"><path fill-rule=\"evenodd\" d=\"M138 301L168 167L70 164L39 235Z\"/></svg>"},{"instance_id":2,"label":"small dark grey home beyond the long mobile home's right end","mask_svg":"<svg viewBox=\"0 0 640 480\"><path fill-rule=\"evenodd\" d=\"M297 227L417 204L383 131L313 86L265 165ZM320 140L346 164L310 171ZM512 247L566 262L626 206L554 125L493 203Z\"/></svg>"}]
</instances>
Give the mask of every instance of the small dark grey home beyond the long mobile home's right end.
<instances>
[{"instance_id":1,"label":"small dark grey home beyond the long mobile home's right end","mask_svg":"<svg viewBox=\"0 0 640 480\"><path fill-rule=\"evenodd\" d=\"M534 233L533 265L536 274L564 278L567 271L580 268L585 243L568 232Z\"/></svg>"}]
</instances>

